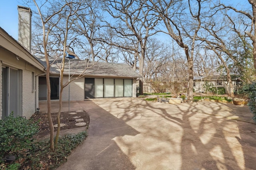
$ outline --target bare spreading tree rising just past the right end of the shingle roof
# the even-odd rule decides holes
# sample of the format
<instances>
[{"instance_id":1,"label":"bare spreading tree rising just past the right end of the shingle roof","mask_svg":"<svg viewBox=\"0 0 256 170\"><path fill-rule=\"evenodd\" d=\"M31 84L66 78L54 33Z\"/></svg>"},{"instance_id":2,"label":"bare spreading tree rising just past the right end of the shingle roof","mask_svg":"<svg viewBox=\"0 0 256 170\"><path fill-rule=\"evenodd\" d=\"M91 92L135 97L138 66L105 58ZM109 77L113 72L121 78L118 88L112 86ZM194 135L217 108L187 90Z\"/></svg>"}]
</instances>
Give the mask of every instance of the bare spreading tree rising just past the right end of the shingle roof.
<instances>
[{"instance_id":1,"label":"bare spreading tree rising just past the right end of the shingle roof","mask_svg":"<svg viewBox=\"0 0 256 170\"><path fill-rule=\"evenodd\" d=\"M156 34L156 25L158 24L158 16L152 14L152 10L148 6L144 5L140 1L136 0L106 0L104 1L104 10L110 14L110 16L118 22L116 25L106 21L108 27L116 31L117 37L121 37L124 44L118 47L124 47L128 49L125 39L132 39L130 42L134 42L138 45L138 49L134 50L135 57L138 57L139 61L139 74L143 77L144 59L147 47L148 37ZM134 48L133 46L133 48ZM137 59L134 59L136 61ZM143 79L142 79L143 81ZM140 87L142 88L142 81Z\"/></svg>"}]
</instances>

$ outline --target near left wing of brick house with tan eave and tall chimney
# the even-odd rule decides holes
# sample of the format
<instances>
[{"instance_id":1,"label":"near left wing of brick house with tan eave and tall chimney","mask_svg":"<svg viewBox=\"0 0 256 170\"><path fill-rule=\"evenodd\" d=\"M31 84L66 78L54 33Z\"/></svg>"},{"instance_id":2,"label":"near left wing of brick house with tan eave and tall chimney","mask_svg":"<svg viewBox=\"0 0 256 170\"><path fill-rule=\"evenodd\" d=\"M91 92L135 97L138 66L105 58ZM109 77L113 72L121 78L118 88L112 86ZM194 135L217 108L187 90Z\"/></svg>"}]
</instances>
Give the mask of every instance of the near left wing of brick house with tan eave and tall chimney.
<instances>
[{"instance_id":1,"label":"near left wing of brick house with tan eave and tall chimney","mask_svg":"<svg viewBox=\"0 0 256 170\"><path fill-rule=\"evenodd\" d=\"M0 27L0 119L12 111L14 116L26 118L35 113L38 75L44 73L44 66L30 54L31 30L22 24L31 25L30 9L18 6L18 15L20 43ZM27 31L30 33L23 34Z\"/></svg>"}]
</instances>

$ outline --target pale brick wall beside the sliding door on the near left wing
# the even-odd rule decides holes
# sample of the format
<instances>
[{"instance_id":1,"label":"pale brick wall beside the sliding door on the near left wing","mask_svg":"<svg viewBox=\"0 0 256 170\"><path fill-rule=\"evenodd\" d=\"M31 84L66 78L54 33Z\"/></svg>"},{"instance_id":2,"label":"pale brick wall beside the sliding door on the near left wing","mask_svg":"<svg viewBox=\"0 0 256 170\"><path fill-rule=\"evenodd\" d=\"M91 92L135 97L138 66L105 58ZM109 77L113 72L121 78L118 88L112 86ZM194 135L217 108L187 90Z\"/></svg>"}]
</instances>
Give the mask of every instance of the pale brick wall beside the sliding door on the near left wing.
<instances>
[{"instance_id":1,"label":"pale brick wall beside the sliding door on the near left wing","mask_svg":"<svg viewBox=\"0 0 256 170\"><path fill-rule=\"evenodd\" d=\"M22 71L22 116L29 119L35 113L35 92L32 92L32 72Z\"/></svg>"}]
</instances>

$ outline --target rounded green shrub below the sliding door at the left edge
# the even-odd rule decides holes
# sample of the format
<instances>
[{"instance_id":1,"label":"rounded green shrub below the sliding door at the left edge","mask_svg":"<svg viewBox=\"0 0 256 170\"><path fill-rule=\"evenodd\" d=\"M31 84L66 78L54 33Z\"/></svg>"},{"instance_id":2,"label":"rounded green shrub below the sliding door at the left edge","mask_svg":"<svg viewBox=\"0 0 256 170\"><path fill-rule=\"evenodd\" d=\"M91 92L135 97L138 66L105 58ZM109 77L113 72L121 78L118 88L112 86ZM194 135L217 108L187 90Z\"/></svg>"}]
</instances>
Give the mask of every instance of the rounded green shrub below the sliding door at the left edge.
<instances>
[{"instance_id":1,"label":"rounded green shrub below the sliding door at the left edge","mask_svg":"<svg viewBox=\"0 0 256 170\"><path fill-rule=\"evenodd\" d=\"M32 143L32 137L38 132L37 123L23 117L14 117L11 113L8 117L0 120L0 156L20 149L28 149Z\"/></svg>"}]
</instances>

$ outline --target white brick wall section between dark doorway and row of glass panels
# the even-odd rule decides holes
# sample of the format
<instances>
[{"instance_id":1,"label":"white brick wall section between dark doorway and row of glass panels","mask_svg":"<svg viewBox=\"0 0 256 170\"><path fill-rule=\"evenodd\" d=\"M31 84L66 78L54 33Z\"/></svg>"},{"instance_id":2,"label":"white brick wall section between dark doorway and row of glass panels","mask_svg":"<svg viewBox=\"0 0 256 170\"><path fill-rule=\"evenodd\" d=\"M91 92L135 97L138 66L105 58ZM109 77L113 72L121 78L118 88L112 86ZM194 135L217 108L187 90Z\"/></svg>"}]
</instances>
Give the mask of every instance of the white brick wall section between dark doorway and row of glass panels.
<instances>
[{"instance_id":1,"label":"white brick wall section between dark doorway and row of glass panels","mask_svg":"<svg viewBox=\"0 0 256 170\"><path fill-rule=\"evenodd\" d=\"M68 81L68 76L64 76L63 84ZM68 86L63 89L62 100L68 101ZM84 77L70 83L70 101L84 100Z\"/></svg>"}]
</instances>

